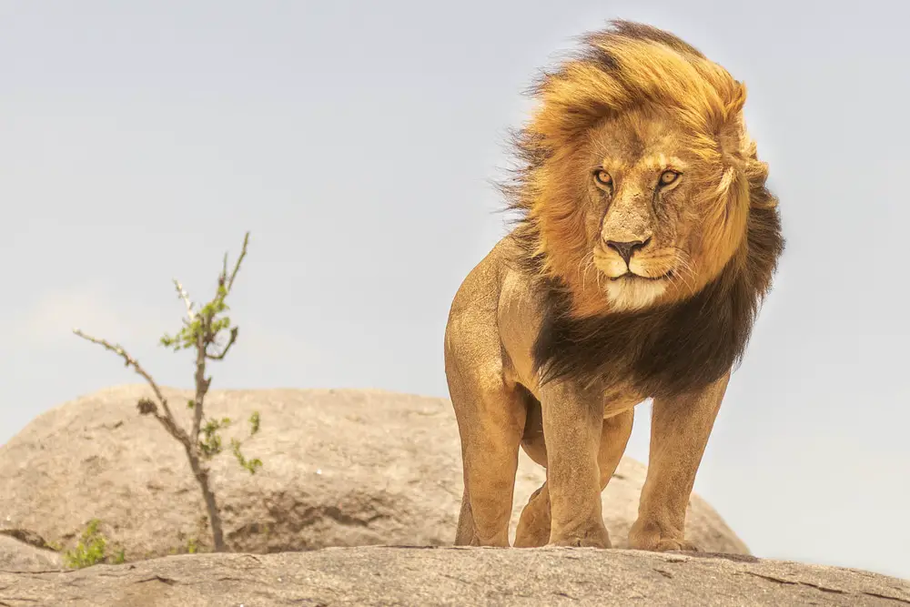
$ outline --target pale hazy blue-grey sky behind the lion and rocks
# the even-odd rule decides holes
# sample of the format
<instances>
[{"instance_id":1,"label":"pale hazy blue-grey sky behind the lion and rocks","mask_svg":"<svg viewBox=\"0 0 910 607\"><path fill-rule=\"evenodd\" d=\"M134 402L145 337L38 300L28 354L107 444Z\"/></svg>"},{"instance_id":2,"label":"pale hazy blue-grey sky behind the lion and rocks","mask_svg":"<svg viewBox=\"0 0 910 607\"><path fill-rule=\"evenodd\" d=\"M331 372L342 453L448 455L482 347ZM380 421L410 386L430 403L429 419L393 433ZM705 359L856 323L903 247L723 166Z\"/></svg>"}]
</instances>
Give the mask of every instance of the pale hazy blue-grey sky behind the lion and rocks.
<instances>
[{"instance_id":1,"label":"pale hazy blue-grey sky behind the lion and rocks","mask_svg":"<svg viewBox=\"0 0 910 607\"><path fill-rule=\"evenodd\" d=\"M761 556L910 577L910 4L0 0L0 442L132 382L252 231L214 388L447 396L521 91L608 18L749 86L788 248L696 482ZM647 410L628 454L647 455Z\"/></svg>"}]
</instances>

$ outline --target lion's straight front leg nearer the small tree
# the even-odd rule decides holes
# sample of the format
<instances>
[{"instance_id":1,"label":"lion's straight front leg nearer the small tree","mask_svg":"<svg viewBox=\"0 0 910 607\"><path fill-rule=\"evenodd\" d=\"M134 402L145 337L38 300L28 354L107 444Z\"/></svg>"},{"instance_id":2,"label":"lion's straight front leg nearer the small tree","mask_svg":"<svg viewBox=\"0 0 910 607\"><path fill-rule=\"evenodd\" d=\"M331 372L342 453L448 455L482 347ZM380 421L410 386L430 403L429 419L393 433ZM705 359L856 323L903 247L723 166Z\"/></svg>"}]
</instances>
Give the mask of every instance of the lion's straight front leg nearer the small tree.
<instances>
[{"instance_id":1,"label":"lion's straight front leg nearer the small tree","mask_svg":"<svg viewBox=\"0 0 910 607\"><path fill-rule=\"evenodd\" d=\"M549 543L609 548L597 463L602 399L592 399L567 383L548 385L541 397L551 508Z\"/></svg>"}]
</instances>

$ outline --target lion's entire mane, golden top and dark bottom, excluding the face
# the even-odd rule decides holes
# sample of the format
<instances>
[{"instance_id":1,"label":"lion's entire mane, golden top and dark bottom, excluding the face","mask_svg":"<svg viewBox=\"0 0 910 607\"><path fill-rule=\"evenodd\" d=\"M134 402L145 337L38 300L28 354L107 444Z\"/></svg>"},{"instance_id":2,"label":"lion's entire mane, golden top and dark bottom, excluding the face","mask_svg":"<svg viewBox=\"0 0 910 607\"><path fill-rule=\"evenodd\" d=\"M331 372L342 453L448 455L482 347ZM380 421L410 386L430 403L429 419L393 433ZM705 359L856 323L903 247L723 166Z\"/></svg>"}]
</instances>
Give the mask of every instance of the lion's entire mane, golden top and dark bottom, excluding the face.
<instances>
[{"instance_id":1,"label":"lion's entire mane, golden top and dark bottom, excluding the face","mask_svg":"<svg viewBox=\"0 0 910 607\"><path fill-rule=\"evenodd\" d=\"M768 167L743 123L745 86L674 35L613 21L531 89L540 104L514 137L522 166L501 186L521 213L518 260L543 287L546 321L534 358L544 380L632 378L649 394L713 381L742 356L784 248ZM578 268L589 243L578 179L567 167L594 126L656 106L682 126L703 170L693 205L710 209L701 239L723 259L683 300L616 313ZM593 293L593 295L591 295ZM637 347L632 347L638 344Z\"/></svg>"}]
</instances>

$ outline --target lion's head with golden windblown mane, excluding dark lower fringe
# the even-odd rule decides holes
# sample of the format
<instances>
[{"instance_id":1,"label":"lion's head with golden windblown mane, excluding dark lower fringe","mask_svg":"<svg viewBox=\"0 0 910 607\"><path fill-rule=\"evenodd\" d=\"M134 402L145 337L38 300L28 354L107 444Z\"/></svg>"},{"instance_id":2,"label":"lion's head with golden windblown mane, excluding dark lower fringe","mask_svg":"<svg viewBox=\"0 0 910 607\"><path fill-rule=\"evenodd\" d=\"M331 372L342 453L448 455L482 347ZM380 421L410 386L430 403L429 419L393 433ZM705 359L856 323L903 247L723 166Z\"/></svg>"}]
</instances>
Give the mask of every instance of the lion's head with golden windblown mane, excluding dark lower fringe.
<instances>
[{"instance_id":1,"label":"lion's head with golden windblown mane, excluding dark lower fringe","mask_svg":"<svg viewBox=\"0 0 910 607\"><path fill-rule=\"evenodd\" d=\"M745 86L722 66L621 24L587 36L534 94L506 192L529 271L571 294L572 316L679 302L745 263L767 166L745 129Z\"/></svg>"}]
</instances>

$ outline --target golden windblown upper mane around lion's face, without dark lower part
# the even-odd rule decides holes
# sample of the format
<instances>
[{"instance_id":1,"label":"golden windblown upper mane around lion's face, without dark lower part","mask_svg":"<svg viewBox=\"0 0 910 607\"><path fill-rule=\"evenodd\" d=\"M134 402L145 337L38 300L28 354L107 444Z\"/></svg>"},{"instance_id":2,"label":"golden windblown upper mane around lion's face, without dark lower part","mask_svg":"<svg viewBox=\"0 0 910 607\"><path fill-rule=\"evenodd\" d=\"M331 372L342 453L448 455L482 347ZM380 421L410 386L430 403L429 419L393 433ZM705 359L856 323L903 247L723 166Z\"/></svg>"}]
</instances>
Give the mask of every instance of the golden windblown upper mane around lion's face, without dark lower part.
<instances>
[{"instance_id":1,"label":"golden windblown upper mane around lion's face, without dark lower part","mask_svg":"<svg viewBox=\"0 0 910 607\"><path fill-rule=\"evenodd\" d=\"M521 213L516 236L537 262L535 270L561 278L577 298L582 289L572 273L586 243L573 184L559 167L603 119L642 106L672 113L687 149L711 168L700 175L701 199L694 202L715 209L703 238L717 247L739 244L740 235L723 227L744 224L749 184L763 183L768 172L745 131L742 83L674 35L627 21L611 25L582 36L581 51L532 86L539 106L513 141L522 167L501 186L509 207ZM756 204L774 200L753 199Z\"/></svg>"}]
</instances>

